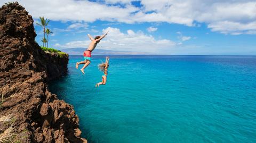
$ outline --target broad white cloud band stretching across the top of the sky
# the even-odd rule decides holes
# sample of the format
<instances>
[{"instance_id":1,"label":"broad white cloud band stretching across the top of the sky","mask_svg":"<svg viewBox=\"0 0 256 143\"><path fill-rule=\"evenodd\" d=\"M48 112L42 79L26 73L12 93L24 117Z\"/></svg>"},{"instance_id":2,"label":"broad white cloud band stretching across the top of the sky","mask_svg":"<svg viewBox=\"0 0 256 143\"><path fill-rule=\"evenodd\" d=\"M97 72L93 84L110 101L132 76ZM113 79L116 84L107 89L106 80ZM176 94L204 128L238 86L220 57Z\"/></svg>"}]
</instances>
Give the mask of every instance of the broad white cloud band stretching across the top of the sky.
<instances>
[{"instance_id":1,"label":"broad white cloud band stretching across the top of the sky","mask_svg":"<svg viewBox=\"0 0 256 143\"><path fill-rule=\"evenodd\" d=\"M4 0L7 2L7 0ZM169 22L186 26L206 23L212 31L231 34L255 34L255 0L141 0L142 7L131 0L97 2L75 0L18 0L34 18L45 16L51 20L95 20L134 22ZM49 5L50 3L50 5ZM115 5L122 3L124 6Z\"/></svg>"}]
</instances>

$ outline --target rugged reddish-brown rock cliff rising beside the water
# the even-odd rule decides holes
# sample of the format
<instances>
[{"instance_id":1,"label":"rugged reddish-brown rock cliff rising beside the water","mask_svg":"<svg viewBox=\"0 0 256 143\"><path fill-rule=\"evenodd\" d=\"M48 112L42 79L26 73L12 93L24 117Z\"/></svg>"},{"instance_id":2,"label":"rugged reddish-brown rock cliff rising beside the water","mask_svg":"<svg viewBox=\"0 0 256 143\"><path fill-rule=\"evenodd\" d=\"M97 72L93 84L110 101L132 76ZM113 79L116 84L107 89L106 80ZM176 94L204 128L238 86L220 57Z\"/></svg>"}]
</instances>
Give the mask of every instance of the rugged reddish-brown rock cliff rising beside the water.
<instances>
[{"instance_id":1,"label":"rugged reddish-brown rock cliff rising beside the water","mask_svg":"<svg viewBox=\"0 0 256 143\"><path fill-rule=\"evenodd\" d=\"M68 56L45 53L35 37L24 7L17 2L1 7L0 139L7 133L17 142L86 142L73 106L47 88L67 72Z\"/></svg>"}]
</instances>

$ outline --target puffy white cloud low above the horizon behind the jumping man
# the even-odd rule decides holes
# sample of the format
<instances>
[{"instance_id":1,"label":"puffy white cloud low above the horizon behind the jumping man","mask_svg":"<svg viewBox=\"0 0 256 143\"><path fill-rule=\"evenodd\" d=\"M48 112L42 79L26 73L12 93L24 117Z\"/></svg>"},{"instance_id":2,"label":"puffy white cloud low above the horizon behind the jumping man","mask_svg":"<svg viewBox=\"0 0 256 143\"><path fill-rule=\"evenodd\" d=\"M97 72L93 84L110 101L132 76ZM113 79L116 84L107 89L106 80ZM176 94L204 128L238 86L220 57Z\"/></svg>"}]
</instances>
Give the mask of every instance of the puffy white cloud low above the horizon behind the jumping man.
<instances>
[{"instance_id":1,"label":"puffy white cloud low above the horizon behind the jumping man","mask_svg":"<svg viewBox=\"0 0 256 143\"><path fill-rule=\"evenodd\" d=\"M126 33L121 32L118 28L108 27L102 32L109 31L108 35L98 44L97 48L111 49L116 51L134 51L134 52L156 52L161 53L164 49L171 48L176 44L167 39L155 39L151 35L145 35L141 31L134 32L127 30ZM90 40L85 41L71 41L63 45L55 46L59 48L71 47L87 47ZM157 48L156 48L157 47Z\"/></svg>"}]
</instances>

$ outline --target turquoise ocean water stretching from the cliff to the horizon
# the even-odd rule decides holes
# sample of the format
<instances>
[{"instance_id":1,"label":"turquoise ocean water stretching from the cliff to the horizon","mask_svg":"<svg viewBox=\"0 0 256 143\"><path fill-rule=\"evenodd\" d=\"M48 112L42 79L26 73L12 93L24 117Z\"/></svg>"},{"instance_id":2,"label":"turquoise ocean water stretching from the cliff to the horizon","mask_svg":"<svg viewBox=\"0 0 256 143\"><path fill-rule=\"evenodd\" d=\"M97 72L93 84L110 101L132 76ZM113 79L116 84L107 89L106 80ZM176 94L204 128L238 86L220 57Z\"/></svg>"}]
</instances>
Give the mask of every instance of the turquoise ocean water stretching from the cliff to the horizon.
<instances>
[{"instance_id":1,"label":"turquoise ocean water stretching from the cliff to the horizon","mask_svg":"<svg viewBox=\"0 0 256 143\"><path fill-rule=\"evenodd\" d=\"M256 56L109 57L104 86L104 55L50 85L89 142L256 142Z\"/></svg>"}]
</instances>

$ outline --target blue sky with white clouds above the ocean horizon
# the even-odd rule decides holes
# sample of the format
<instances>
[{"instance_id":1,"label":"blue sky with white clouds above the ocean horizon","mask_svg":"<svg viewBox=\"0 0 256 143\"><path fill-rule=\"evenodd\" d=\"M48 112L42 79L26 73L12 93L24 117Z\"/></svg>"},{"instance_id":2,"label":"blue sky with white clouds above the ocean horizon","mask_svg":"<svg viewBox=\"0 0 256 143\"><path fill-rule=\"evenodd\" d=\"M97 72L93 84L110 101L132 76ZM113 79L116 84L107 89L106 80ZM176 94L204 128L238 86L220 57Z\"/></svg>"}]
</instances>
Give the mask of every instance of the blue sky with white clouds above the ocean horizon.
<instances>
[{"instance_id":1,"label":"blue sky with white clouds above the ocean horizon","mask_svg":"<svg viewBox=\"0 0 256 143\"><path fill-rule=\"evenodd\" d=\"M255 1L18 1L39 22L51 20L49 46L185 55L256 55ZM42 28L35 25L42 45Z\"/></svg>"}]
</instances>

